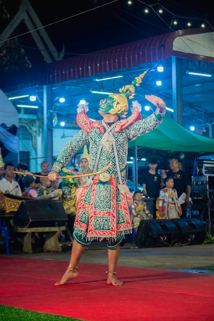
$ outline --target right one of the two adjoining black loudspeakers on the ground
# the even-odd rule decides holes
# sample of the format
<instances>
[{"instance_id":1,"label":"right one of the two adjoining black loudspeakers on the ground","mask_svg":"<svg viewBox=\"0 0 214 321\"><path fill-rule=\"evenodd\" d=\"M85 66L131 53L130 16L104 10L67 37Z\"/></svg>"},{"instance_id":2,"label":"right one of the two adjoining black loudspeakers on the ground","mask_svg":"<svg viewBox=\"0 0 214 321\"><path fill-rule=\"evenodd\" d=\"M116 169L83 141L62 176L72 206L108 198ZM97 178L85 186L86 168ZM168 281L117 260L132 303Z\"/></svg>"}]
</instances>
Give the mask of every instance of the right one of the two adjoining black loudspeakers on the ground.
<instances>
[{"instance_id":1,"label":"right one of the two adjoining black loudspeakers on the ground","mask_svg":"<svg viewBox=\"0 0 214 321\"><path fill-rule=\"evenodd\" d=\"M179 230L180 242L202 244L206 236L206 227L198 218L173 218L171 221Z\"/></svg>"}]
</instances>

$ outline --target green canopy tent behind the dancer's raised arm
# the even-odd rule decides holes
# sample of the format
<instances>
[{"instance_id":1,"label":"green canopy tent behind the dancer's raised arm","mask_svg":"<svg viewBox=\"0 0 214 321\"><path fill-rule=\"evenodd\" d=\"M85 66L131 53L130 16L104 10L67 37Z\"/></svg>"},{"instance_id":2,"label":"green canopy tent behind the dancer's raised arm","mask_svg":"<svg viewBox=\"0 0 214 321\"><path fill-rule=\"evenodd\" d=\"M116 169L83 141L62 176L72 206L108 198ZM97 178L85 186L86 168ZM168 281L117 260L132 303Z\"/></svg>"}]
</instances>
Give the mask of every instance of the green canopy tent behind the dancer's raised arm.
<instances>
[{"instance_id":1,"label":"green canopy tent behind the dancer's raised arm","mask_svg":"<svg viewBox=\"0 0 214 321\"><path fill-rule=\"evenodd\" d=\"M179 157L180 153L184 153L185 158L214 155L214 138L190 132L166 115L158 128L129 143L129 156L135 157L136 173L138 158L149 156L169 159ZM134 176L137 189L138 179L137 175Z\"/></svg>"}]
</instances>

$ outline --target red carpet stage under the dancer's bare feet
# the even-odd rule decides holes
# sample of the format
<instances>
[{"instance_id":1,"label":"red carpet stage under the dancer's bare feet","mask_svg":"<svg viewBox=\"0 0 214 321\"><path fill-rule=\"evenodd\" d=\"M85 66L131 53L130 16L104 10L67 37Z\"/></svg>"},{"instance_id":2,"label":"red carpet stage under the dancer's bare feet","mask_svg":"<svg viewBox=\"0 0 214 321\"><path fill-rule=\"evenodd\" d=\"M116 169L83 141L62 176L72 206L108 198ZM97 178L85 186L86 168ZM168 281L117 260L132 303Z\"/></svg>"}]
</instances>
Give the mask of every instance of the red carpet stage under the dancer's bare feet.
<instances>
[{"instance_id":1,"label":"red carpet stage under the dancer's bare feet","mask_svg":"<svg viewBox=\"0 0 214 321\"><path fill-rule=\"evenodd\" d=\"M122 287L106 284L105 265L79 264L79 277L54 286L67 262L0 257L0 305L89 321L212 321L214 275L117 267Z\"/></svg>"}]
</instances>

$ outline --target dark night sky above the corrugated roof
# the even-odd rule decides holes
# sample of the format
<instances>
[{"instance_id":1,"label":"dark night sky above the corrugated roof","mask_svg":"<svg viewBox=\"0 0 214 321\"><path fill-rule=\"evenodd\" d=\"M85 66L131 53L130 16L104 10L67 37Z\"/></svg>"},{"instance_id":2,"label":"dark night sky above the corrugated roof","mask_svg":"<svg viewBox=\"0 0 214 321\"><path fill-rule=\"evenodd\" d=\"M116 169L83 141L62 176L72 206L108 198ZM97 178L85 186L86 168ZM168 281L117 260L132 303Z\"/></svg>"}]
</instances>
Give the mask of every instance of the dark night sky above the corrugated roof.
<instances>
[{"instance_id":1,"label":"dark night sky above the corrugated roof","mask_svg":"<svg viewBox=\"0 0 214 321\"><path fill-rule=\"evenodd\" d=\"M64 58L186 29L188 21L191 21L192 28L199 28L205 19L207 26L214 25L214 7L208 1L203 1L203 6L188 5L186 1L133 0L132 3L130 6L127 0L61 0L52 3L30 0L56 50L60 53L65 46ZM3 4L12 18L20 1L3 0ZM144 13L145 8L149 9L148 14ZM162 14L158 13L160 8ZM178 21L177 26L173 25L174 19ZM22 22L13 35L25 32L28 29ZM43 58L32 36L28 33L18 39L34 66L39 64Z\"/></svg>"}]
</instances>

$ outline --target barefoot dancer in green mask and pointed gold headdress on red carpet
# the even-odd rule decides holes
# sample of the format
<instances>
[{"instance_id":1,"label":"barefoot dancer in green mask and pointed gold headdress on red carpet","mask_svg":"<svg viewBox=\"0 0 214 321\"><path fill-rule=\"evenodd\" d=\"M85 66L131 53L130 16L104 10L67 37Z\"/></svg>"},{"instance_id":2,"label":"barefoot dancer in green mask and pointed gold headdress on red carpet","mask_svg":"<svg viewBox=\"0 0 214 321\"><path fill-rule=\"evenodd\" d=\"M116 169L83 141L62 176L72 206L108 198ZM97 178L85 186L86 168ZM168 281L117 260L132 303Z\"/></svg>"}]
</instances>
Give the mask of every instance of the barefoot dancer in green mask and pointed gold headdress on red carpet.
<instances>
[{"instance_id":1,"label":"barefoot dancer in green mask and pointed gold headdress on red carpet","mask_svg":"<svg viewBox=\"0 0 214 321\"><path fill-rule=\"evenodd\" d=\"M82 146L89 144L88 173L98 173L90 175L87 182L76 190L78 206L70 263L61 280L55 285L63 285L76 278L78 263L85 248L92 240L104 239L108 242L107 283L123 285L116 278L115 270L124 236L132 233L129 206L133 198L125 184L128 142L154 130L162 123L165 115L163 100L155 95L145 95L145 98L157 107L156 111L141 119L141 105L136 101L133 102L131 116L122 119L129 109L127 98L134 97L135 86L142 83L145 73L136 77L131 85L123 86L120 93L101 99L98 110L103 117L101 121L94 121L87 116L88 104L78 105L76 121L81 130L59 153L48 174L51 180L56 179L71 157ZM103 168L105 172L101 172Z\"/></svg>"}]
</instances>

